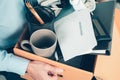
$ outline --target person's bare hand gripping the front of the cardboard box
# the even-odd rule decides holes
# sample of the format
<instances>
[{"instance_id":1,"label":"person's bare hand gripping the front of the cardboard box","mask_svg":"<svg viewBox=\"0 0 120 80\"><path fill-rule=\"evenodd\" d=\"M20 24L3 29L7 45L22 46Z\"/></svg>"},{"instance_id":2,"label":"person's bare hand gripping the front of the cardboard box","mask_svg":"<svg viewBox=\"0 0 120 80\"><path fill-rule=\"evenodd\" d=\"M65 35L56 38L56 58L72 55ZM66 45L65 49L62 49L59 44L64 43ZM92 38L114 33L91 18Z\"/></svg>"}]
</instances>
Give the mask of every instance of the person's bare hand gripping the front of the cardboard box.
<instances>
[{"instance_id":1,"label":"person's bare hand gripping the front of the cardboard box","mask_svg":"<svg viewBox=\"0 0 120 80\"><path fill-rule=\"evenodd\" d=\"M62 72L62 69L40 61L31 61L27 68L27 73L34 80L57 80L57 74Z\"/></svg>"}]
</instances>

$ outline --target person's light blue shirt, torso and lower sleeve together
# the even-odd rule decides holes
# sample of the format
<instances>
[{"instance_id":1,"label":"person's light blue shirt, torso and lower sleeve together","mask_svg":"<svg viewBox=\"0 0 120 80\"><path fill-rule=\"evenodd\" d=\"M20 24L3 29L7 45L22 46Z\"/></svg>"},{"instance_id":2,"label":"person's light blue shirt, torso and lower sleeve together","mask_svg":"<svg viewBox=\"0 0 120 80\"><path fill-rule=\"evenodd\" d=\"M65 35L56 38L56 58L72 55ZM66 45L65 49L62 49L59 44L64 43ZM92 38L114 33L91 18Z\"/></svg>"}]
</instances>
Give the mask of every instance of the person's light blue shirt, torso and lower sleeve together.
<instances>
[{"instance_id":1,"label":"person's light blue shirt, torso and lower sleeve together","mask_svg":"<svg viewBox=\"0 0 120 80\"><path fill-rule=\"evenodd\" d=\"M29 60L6 51L17 42L25 21L23 0L0 0L0 71L25 73Z\"/></svg>"}]
</instances>

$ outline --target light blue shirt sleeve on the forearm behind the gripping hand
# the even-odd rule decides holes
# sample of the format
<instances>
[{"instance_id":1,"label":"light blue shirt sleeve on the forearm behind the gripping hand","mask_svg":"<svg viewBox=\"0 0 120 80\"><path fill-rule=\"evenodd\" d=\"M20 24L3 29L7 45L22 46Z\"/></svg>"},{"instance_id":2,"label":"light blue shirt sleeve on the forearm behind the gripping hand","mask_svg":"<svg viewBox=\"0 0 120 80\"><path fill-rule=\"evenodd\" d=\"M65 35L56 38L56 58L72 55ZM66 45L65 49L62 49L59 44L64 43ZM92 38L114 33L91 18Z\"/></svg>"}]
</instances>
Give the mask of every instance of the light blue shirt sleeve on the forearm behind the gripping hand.
<instances>
[{"instance_id":1,"label":"light blue shirt sleeve on the forearm behind the gripping hand","mask_svg":"<svg viewBox=\"0 0 120 80\"><path fill-rule=\"evenodd\" d=\"M29 64L29 60L0 50L0 71L14 72L24 75Z\"/></svg>"}]
</instances>

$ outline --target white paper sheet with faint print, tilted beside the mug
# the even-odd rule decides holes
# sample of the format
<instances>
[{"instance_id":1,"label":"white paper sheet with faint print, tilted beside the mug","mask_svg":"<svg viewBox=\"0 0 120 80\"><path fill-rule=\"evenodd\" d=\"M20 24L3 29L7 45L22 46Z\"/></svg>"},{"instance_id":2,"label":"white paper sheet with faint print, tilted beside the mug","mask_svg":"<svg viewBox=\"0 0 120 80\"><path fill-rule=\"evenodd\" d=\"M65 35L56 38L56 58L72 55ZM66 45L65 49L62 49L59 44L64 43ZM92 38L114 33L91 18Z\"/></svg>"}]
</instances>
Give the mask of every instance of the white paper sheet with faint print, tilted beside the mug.
<instances>
[{"instance_id":1,"label":"white paper sheet with faint print, tilted beside the mug","mask_svg":"<svg viewBox=\"0 0 120 80\"><path fill-rule=\"evenodd\" d=\"M97 45L90 13L87 10L74 11L59 19L54 28L65 61L88 54Z\"/></svg>"}]
</instances>

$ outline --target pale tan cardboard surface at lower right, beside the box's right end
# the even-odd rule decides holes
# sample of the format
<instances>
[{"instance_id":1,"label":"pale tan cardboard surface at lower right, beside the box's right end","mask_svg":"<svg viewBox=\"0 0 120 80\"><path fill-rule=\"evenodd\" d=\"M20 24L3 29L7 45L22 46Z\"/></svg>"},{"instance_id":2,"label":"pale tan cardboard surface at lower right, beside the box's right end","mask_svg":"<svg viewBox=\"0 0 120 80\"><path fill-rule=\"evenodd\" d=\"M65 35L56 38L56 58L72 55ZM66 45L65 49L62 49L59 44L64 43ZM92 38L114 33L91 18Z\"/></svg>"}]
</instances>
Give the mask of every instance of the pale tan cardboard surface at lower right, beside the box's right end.
<instances>
[{"instance_id":1,"label":"pale tan cardboard surface at lower right, beside the box's right end","mask_svg":"<svg viewBox=\"0 0 120 80\"><path fill-rule=\"evenodd\" d=\"M120 10L115 10L111 55L97 56L94 75L97 80L120 80Z\"/></svg>"}]
</instances>

